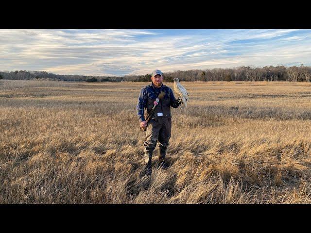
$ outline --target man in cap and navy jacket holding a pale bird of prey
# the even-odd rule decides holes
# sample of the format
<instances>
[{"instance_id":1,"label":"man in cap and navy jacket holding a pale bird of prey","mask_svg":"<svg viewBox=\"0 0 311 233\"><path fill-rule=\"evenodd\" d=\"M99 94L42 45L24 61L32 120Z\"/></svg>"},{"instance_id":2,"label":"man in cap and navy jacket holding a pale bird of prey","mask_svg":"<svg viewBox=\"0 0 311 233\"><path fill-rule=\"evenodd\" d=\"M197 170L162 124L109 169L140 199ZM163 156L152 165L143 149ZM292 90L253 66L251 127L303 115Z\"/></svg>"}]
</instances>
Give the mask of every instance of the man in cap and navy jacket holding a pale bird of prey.
<instances>
[{"instance_id":1,"label":"man in cap and navy jacket holding a pale bird of prey","mask_svg":"<svg viewBox=\"0 0 311 233\"><path fill-rule=\"evenodd\" d=\"M157 145L159 147L159 165L162 168L168 167L165 162L165 156L171 138L171 106L177 108L181 104L180 98L177 100L175 99L173 90L162 83L163 74L161 70L154 70L152 72L151 80L152 83L150 85L141 88L136 108L140 127L147 127L146 141L144 142L145 172L147 176L151 174L152 153L155 150L157 140ZM160 92L165 93L164 97L163 99L160 99L155 106L155 111L153 115L150 116L148 125L146 125L144 109L146 108L148 114L151 113L152 108L155 105L155 99Z\"/></svg>"}]
</instances>

